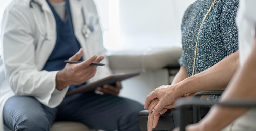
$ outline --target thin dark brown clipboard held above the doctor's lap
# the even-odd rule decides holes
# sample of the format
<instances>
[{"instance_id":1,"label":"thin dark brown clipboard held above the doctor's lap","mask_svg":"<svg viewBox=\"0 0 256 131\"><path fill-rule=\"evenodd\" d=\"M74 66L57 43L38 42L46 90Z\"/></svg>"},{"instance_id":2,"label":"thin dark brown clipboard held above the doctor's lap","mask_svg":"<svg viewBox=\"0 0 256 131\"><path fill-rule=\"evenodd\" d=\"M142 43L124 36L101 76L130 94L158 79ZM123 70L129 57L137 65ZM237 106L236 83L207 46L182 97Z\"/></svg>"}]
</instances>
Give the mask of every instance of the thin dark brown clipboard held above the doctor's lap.
<instances>
[{"instance_id":1,"label":"thin dark brown clipboard held above the doctor's lap","mask_svg":"<svg viewBox=\"0 0 256 131\"><path fill-rule=\"evenodd\" d=\"M85 85L82 85L80 87L77 87L71 91L69 91L66 96L70 96L76 93L86 93L94 91L97 87L102 87L103 85L109 84L113 85L117 81L123 81L126 79L129 79L134 76L138 76L140 73L133 73L133 74L116 74L116 75L110 75L106 78L103 78L101 80L95 81L93 83L88 83Z\"/></svg>"}]
</instances>

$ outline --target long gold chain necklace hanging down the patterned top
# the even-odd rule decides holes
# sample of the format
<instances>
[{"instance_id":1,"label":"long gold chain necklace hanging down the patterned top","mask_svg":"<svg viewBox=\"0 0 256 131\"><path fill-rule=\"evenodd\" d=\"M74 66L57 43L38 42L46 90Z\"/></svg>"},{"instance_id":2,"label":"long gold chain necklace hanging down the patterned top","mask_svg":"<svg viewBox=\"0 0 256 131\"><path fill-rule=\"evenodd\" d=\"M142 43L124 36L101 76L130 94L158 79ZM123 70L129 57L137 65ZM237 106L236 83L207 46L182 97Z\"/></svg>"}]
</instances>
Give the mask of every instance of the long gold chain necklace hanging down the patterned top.
<instances>
[{"instance_id":1,"label":"long gold chain necklace hanging down the patterned top","mask_svg":"<svg viewBox=\"0 0 256 131\"><path fill-rule=\"evenodd\" d=\"M212 8L214 7L214 5L217 3L218 0L214 0L212 2L212 5L210 6L209 10L207 11L207 13L205 14L204 18L203 18L203 21L200 25L200 28L199 28L199 31L198 31L198 34L197 34L197 41L196 41L196 46L195 46L195 55L194 55L194 63L193 63L193 71L192 71L192 76L195 74L195 66L196 66L196 56L197 56L197 46L198 46L198 38L199 38L199 34L200 34L200 31L201 31L201 28L203 26L203 23L204 21L206 20L206 18L208 17L208 15L210 14L210 12L212 11Z\"/></svg>"}]
</instances>

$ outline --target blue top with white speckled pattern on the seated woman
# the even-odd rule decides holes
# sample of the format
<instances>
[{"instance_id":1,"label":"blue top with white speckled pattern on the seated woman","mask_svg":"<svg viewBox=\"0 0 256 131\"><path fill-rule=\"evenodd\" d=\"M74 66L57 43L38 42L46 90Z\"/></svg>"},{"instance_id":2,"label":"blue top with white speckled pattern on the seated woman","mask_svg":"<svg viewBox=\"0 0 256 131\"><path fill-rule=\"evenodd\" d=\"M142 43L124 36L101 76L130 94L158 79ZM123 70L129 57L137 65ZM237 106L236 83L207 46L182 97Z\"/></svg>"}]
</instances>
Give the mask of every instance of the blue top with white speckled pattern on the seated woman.
<instances>
[{"instance_id":1,"label":"blue top with white speckled pattern on the seated woman","mask_svg":"<svg viewBox=\"0 0 256 131\"><path fill-rule=\"evenodd\" d=\"M182 56L180 66L192 75L196 38L204 15L213 0L197 0L182 19ZM204 71L238 50L236 14L238 0L218 0L205 20L198 39L195 74Z\"/></svg>"}]
</instances>

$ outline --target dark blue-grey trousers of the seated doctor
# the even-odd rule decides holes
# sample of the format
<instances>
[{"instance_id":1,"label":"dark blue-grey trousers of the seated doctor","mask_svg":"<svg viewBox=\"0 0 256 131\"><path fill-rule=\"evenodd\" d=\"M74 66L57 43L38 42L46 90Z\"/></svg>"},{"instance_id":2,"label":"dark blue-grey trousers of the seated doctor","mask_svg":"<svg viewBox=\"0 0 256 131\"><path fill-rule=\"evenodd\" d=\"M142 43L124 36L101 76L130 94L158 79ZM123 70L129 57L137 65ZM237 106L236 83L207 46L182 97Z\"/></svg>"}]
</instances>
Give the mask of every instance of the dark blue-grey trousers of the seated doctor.
<instances>
[{"instance_id":1,"label":"dark blue-grey trousers of the seated doctor","mask_svg":"<svg viewBox=\"0 0 256 131\"><path fill-rule=\"evenodd\" d=\"M49 131L54 121L78 121L95 129L139 131L138 102L95 93L65 97L49 108L34 97L14 96L4 106L4 125L13 131Z\"/></svg>"}]
</instances>

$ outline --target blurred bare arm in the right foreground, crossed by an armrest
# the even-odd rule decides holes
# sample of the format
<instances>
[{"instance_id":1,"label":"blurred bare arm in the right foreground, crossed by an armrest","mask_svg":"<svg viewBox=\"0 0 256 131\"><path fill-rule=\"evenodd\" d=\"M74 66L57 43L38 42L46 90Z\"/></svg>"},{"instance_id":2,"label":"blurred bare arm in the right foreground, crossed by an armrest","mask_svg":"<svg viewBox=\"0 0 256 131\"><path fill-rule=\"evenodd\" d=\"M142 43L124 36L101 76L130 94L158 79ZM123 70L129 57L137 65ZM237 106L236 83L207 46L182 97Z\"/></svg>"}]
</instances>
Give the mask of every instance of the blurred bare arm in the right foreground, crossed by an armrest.
<instances>
[{"instance_id":1,"label":"blurred bare arm in the right foreground, crossed by an armrest","mask_svg":"<svg viewBox=\"0 0 256 131\"><path fill-rule=\"evenodd\" d=\"M246 63L239 70L230 85L223 93L221 101L236 99L256 99L256 39L253 50ZM227 108L214 106L208 115L197 125L190 127L188 131L194 131L197 127L203 127L205 131L218 131L229 125L233 120L241 116L248 109ZM221 121L221 123L219 122ZM214 130L213 130L214 129Z\"/></svg>"}]
</instances>

